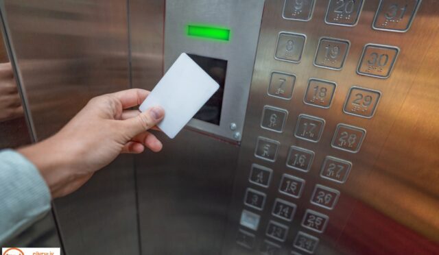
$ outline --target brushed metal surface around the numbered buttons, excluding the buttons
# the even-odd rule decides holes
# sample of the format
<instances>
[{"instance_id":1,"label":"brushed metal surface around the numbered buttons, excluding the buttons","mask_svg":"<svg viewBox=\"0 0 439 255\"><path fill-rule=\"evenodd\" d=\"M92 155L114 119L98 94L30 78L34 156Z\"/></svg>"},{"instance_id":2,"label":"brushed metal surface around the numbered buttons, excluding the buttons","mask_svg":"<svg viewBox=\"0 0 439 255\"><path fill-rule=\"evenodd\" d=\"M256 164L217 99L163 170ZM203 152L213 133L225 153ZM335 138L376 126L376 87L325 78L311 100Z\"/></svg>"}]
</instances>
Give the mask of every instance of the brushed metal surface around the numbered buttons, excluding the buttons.
<instances>
[{"instance_id":1,"label":"brushed metal surface around the numbered buttons, excluding the buttons","mask_svg":"<svg viewBox=\"0 0 439 255\"><path fill-rule=\"evenodd\" d=\"M316 1L312 19L308 22L282 19L283 0L265 2L265 10L259 36L257 59L250 91L244 137L240 149L234 200L230 210L227 245L224 254L246 254L246 248L235 243L239 231L241 210L247 187L268 193L267 205L261 215L256 234L257 247L247 253L256 253L263 239L265 228L272 219L269 213L277 197L294 202L298 206L296 216L289 224L289 236L283 243L284 252L295 250L292 243L299 231L320 239L316 254L370 254L398 253L396 239L406 250L416 253L439 252L439 191L437 183L439 154L439 74L434 71L438 62L436 48L439 41L439 2L423 1L412 27L405 34L372 29L372 22L379 1L366 1L359 22L355 27L342 27L324 23L328 1ZM278 61L274 58L279 32L305 34L307 42L299 64ZM321 37L339 38L351 42L344 67L340 71L313 66L313 59ZM363 48L368 43L390 45L400 49L394 69L388 79L357 75L356 70ZM294 73L296 84L290 101L269 97L266 93L270 73L281 71ZM303 98L310 78L328 80L337 84L333 103L329 109L304 104ZM381 92L376 112L371 119L356 117L343 112L348 91L353 86ZM276 106L288 110L285 132L278 134L259 127L263 107ZM298 114L309 114L326 121L322 138L318 143L302 141L294 137ZM337 124L345 123L364 128L367 134L361 150L356 154L331 148L331 139ZM278 160L263 162L253 156L257 137L264 136L280 141ZM289 146L296 145L316 153L308 173L285 167ZM326 156L334 156L352 162L351 173L344 184L320 178ZM272 185L263 189L248 182L252 164L273 169ZM288 199L278 193L283 173L295 175L306 181L300 199ZM309 199L316 184L340 191L340 198L333 210L311 205ZM316 234L300 226L305 210L312 209L329 216L327 229ZM360 213L362 211L368 213ZM436 216L434 216L436 215ZM379 219L375 228L372 219ZM396 226L397 228L393 228ZM377 229L375 231L374 229ZM392 230L394 229L394 230ZM345 230L345 232L344 232ZM385 231L380 231L385 230ZM398 231L399 232L398 232ZM362 239L359 236L366 236ZM281 244L277 242L278 244ZM427 243L427 245L423 245ZM397 245L396 245L397 246ZM248 250L247 250L248 251Z\"/></svg>"}]
</instances>

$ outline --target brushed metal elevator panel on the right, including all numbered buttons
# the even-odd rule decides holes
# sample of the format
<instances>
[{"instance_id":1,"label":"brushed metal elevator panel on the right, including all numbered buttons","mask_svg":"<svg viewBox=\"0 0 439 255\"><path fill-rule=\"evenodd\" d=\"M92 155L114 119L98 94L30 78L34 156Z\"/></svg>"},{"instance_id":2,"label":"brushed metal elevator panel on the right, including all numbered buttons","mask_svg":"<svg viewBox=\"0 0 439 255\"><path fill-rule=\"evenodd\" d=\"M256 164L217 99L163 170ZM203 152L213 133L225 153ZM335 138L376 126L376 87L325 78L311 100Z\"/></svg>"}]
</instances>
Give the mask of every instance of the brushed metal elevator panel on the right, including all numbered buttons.
<instances>
[{"instance_id":1,"label":"brushed metal elevator panel on the right, including all numbered buttons","mask_svg":"<svg viewBox=\"0 0 439 255\"><path fill-rule=\"evenodd\" d=\"M224 254L439 252L438 8L265 1Z\"/></svg>"}]
</instances>

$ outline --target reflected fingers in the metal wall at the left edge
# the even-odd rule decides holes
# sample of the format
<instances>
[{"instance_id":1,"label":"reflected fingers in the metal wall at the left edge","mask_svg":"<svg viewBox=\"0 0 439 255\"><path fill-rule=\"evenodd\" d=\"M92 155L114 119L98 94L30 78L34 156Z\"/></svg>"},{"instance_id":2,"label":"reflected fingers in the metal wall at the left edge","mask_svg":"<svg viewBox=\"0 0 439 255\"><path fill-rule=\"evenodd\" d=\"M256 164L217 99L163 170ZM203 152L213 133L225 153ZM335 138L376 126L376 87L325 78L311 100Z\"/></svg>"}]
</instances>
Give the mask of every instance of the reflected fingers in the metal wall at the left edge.
<instances>
[{"instance_id":1,"label":"reflected fingers in the metal wall at the left edge","mask_svg":"<svg viewBox=\"0 0 439 255\"><path fill-rule=\"evenodd\" d=\"M0 63L0 121L23 116L23 106L16 87L11 63Z\"/></svg>"}]
</instances>

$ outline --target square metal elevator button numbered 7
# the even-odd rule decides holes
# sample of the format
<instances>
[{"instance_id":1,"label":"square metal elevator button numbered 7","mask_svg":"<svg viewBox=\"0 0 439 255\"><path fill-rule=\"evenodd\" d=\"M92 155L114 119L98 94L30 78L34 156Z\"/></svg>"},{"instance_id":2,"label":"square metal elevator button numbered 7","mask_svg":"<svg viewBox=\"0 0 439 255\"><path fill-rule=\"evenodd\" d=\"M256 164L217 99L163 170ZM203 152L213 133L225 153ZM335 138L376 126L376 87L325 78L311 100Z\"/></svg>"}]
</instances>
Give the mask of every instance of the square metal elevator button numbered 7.
<instances>
[{"instance_id":1,"label":"square metal elevator button numbered 7","mask_svg":"<svg viewBox=\"0 0 439 255\"><path fill-rule=\"evenodd\" d=\"M268 86L268 95L281 99L291 99L296 75L273 72Z\"/></svg>"}]
</instances>

